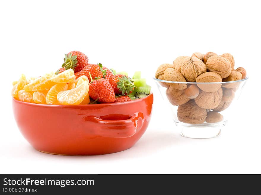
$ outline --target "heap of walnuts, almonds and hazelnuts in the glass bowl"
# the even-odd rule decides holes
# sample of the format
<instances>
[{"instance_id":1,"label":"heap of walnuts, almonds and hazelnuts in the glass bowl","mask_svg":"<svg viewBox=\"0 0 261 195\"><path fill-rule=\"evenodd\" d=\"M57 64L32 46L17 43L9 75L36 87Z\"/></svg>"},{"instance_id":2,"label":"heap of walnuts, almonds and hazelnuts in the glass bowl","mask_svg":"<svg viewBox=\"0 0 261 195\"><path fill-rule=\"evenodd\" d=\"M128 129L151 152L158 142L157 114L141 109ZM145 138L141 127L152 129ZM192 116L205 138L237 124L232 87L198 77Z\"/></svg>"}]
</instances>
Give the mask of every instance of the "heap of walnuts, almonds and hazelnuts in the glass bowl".
<instances>
[{"instance_id":1,"label":"heap of walnuts, almonds and hazelnuts in the glass bowl","mask_svg":"<svg viewBox=\"0 0 261 195\"><path fill-rule=\"evenodd\" d=\"M184 123L217 123L223 120L219 113L231 104L240 82L246 78L243 67L234 69L235 60L230 53L193 53L191 57L180 56L173 64L158 67L155 78L179 83L160 82L166 87L166 96L178 105L178 119ZM191 84L182 82L195 82ZM213 83L215 82L215 83ZM196 84L199 83L199 84ZM206 84L205 84L206 83Z\"/></svg>"}]
</instances>

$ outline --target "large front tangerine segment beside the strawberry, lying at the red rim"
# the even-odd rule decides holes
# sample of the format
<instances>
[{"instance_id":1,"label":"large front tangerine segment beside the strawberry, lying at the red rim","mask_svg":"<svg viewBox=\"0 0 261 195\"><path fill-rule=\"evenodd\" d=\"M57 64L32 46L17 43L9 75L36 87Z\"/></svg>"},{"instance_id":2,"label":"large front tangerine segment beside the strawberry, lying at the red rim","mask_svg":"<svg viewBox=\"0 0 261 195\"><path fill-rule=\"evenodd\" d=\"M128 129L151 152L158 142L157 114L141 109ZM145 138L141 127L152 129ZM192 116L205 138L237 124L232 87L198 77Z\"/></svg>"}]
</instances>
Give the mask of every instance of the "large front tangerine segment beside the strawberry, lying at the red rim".
<instances>
[{"instance_id":1,"label":"large front tangerine segment beside the strawberry, lying at the red rim","mask_svg":"<svg viewBox=\"0 0 261 195\"><path fill-rule=\"evenodd\" d=\"M82 84L78 85L76 88L61 91L57 94L57 99L60 104L63 105L77 105L80 104L89 91L88 81L83 81Z\"/></svg>"}]
</instances>

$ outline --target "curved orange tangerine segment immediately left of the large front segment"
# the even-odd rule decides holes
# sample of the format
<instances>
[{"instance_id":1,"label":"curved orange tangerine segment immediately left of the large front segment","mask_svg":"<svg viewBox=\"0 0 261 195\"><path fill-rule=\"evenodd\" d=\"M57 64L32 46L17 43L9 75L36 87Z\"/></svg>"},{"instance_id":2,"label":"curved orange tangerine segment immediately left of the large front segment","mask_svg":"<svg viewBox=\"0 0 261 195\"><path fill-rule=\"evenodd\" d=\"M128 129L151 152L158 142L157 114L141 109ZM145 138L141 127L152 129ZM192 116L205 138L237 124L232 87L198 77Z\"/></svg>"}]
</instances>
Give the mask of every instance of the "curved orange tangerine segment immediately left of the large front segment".
<instances>
[{"instance_id":1,"label":"curved orange tangerine segment immediately left of the large front segment","mask_svg":"<svg viewBox=\"0 0 261 195\"><path fill-rule=\"evenodd\" d=\"M46 95L46 103L47 104L60 104L57 100L57 94L60 91L66 91L68 89L68 85L67 83L57 83L54 86L52 86L50 88L50 90L48 91L47 95Z\"/></svg>"}]
</instances>

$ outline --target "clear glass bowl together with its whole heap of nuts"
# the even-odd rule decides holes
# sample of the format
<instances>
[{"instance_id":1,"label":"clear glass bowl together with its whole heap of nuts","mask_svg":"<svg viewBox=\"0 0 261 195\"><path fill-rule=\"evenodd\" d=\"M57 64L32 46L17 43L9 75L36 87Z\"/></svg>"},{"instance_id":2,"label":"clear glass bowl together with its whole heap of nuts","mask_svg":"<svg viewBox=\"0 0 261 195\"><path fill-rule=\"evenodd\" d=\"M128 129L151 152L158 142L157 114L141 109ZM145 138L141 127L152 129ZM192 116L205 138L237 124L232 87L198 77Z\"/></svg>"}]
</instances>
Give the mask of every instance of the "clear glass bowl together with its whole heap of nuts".
<instances>
[{"instance_id":1,"label":"clear glass bowl together with its whole heap of nuts","mask_svg":"<svg viewBox=\"0 0 261 195\"><path fill-rule=\"evenodd\" d=\"M230 53L214 52L180 56L173 64L160 65L155 80L174 122L185 137L209 138L220 134L246 80L246 69L234 69ZM169 106L168 106L169 107Z\"/></svg>"}]
</instances>

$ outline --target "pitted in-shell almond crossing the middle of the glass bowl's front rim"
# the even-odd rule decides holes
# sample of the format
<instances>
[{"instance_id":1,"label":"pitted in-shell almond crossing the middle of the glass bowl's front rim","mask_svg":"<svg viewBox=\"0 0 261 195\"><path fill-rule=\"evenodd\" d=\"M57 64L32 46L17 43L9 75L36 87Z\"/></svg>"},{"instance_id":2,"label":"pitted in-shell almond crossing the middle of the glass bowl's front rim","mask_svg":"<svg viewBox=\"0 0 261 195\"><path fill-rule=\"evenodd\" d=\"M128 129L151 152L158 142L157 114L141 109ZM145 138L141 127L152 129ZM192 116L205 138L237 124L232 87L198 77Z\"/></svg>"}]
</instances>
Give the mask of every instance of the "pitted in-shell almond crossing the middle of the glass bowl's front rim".
<instances>
[{"instance_id":1,"label":"pitted in-shell almond crossing the middle of the glass bowl's front rim","mask_svg":"<svg viewBox=\"0 0 261 195\"><path fill-rule=\"evenodd\" d=\"M215 72L205 72L203 74L200 74L197 79L197 83L213 83L213 82L222 82L222 78L219 74ZM222 83L216 83L216 84L197 84L198 87L206 92L214 92L217 91Z\"/></svg>"}]
</instances>

